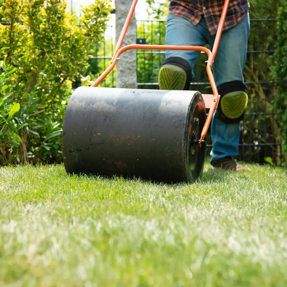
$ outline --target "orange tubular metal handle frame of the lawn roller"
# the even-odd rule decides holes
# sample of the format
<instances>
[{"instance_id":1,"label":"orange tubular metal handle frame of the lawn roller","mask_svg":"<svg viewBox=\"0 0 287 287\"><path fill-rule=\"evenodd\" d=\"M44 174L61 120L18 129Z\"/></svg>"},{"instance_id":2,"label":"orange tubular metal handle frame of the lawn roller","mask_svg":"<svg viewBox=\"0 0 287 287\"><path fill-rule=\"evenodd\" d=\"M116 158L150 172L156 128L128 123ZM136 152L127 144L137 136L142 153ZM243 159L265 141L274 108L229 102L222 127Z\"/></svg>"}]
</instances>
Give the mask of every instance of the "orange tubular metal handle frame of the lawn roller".
<instances>
[{"instance_id":1,"label":"orange tubular metal handle frame of the lawn roller","mask_svg":"<svg viewBox=\"0 0 287 287\"><path fill-rule=\"evenodd\" d=\"M133 13L135 11L135 6L137 5L137 1L138 0L133 0L133 3L131 5L131 8L129 10L129 13L127 15L127 19L125 21L125 24L123 26L123 29L121 31L121 34L119 36L119 40L117 42L116 48L115 48L115 52L111 61L110 66L100 75L100 77L98 77L98 79L96 79L96 81L91 85L91 87L96 87L98 86L98 84L100 84L100 82L102 82L102 80L108 75L108 73L110 73L110 71L113 70L113 68L115 67L117 60L119 58L119 56L121 55L121 53L127 51L127 50L131 50L131 49L147 49L147 50L185 50L185 51L202 51L204 53L206 53L208 55L208 62L206 65L206 71L208 74L208 78L211 84L211 88L212 88L212 92L213 92L213 104L210 107L208 116L206 118L206 121L204 123L202 132L201 132L201 138L199 141L199 146L201 146L201 141L203 141L203 139L205 138L205 135L208 131L208 127L211 123L212 120L212 116L214 113L214 110L217 108L218 105L218 101L219 101L219 95L218 95L218 91L216 88L216 83L212 74L212 65L213 65L213 61L215 59L215 55L218 49L218 45L219 45L219 41L220 41L220 37L222 34L222 30L223 30L223 26L224 26L224 22L225 22L225 18L226 18L226 13L227 13L227 9L228 9L228 5L229 5L229 0L225 0L224 1L224 5L223 5L223 9L222 9L222 14L220 17L220 22L218 25L218 30L216 33L216 37L214 40L214 45L213 45L213 49L212 51L210 51L209 49L207 49L206 47L203 46L170 46L170 45L140 45L140 44L133 44L133 45L127 45L121 48L121 45L123 43L123 39L125 37L125 34L127 32L127 28L129 26L129 23L131 22L131 17L133 16Z\"/></svg>"}]
</instances>

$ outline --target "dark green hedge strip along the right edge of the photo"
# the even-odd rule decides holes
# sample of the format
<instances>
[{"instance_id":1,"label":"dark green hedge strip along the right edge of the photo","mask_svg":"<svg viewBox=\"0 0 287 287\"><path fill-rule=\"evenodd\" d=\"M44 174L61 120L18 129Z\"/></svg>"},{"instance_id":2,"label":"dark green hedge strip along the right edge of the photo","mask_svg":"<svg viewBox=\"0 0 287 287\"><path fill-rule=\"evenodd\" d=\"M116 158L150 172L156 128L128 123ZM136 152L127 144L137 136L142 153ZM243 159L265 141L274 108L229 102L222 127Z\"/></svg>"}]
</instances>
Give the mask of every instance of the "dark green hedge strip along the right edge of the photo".
<instances>
[{"instance_id":1,"label":"dark green hedge strip along the right edge of the photo","mask_svg":"<svg viewBox=\"0 0 287 287\"><path fill-rule=\"evenodd\" d=\"M287 159L287 1L282 2L276 25L273 75L277 82L277 95L273 101L273 109L281 129L284 157Z\"/></svg>"}]
</instances>

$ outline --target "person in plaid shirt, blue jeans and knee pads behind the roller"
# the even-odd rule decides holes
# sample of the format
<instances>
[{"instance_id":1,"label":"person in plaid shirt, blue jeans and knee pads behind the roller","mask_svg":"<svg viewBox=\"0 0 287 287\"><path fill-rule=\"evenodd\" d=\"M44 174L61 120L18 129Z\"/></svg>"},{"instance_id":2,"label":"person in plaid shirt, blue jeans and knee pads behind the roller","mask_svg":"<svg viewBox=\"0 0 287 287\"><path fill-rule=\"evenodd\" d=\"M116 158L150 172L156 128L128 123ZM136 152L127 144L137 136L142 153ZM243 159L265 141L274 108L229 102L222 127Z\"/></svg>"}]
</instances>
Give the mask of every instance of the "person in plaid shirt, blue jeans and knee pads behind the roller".
<instances>
[{"instance_id":1,"label":"person in plaid shirt, blue jeans and knee pads behind the roller","mask_svg":"<svg viewBox=\"0 0 287 287\"><path fill-rule=\"evenodd\" d=\"M166 45L213 48L224 0L170 0ZM238 165L240 121L248 102L243 68L250 32L248 0L230 0L213 63L220 99L211 124L211 164L225 170L249 170ZM160 90L189 90L199 51L166 50L158 75Z\"/></svg>"}]
</instances>

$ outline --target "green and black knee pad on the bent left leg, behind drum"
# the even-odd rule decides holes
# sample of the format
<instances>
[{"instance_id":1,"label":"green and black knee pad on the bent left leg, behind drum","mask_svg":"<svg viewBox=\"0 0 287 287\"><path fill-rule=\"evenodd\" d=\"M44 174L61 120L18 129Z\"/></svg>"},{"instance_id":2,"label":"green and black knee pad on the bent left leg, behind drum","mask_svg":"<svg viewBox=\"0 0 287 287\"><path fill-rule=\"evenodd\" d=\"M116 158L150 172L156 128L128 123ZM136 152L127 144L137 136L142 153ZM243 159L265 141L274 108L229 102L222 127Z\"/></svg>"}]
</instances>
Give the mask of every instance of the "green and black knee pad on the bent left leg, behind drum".
<instances>
[{"instance_id":1,"label":"green and black knee pad on the bent left leg, behind drum","mask_svg":"<svg viewBox=\"0 0 287 287\"><path fill-rule=\"evenodd\" d=\"M158 74L160 90L189 90L191 80L191 66L181 57L167 58Z\"/></svg>"}]
</instances>

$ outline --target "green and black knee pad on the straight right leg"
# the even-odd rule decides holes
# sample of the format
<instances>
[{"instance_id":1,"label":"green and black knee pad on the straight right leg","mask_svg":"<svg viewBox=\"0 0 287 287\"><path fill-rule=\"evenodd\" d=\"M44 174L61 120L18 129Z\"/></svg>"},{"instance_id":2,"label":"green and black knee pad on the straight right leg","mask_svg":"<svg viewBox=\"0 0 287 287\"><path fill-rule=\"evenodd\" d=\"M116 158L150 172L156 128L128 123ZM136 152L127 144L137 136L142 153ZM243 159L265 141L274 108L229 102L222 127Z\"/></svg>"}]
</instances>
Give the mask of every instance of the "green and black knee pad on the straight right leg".
<instances>
[{"instance_id":1,"label":"green and black knee pad on the straight right leg","mask_svg":"<svg viewBox=\"0 0 287 287\"><path fill-rule=\"evenodd\" d=\"M218 89L217 118L224 123L239 123L247 108L247 86L241 81L228 82Z\"/></svg>"}]
</instances>

